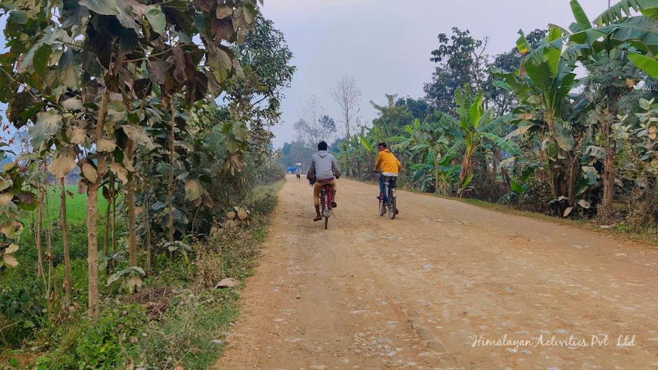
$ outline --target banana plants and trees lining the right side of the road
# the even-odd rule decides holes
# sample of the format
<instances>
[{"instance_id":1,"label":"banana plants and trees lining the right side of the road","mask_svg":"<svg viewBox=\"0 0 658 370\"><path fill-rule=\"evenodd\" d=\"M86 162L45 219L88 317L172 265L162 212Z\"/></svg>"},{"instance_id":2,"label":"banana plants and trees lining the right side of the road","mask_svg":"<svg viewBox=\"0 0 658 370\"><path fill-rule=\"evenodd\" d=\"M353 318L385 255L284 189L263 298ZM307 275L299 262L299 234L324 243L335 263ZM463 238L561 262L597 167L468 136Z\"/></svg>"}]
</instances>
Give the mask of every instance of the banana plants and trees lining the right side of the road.
<instances>
[{"instance_id":1,"label":"banana plants and trees lining the right side of the road","mask_svg":"<svg viewBox=\"0 0 658 370\"><path fill-rule=\"evenodd\" d=\"M488 38L440 34L426 96L373 103L372 126L332 145L341 166L372 179L385 141L404 187L655 239L657 9L620 1L592 19L573 0L573 24L520 31L516 48L494 56Z\"/></svg>"}]
</instances>

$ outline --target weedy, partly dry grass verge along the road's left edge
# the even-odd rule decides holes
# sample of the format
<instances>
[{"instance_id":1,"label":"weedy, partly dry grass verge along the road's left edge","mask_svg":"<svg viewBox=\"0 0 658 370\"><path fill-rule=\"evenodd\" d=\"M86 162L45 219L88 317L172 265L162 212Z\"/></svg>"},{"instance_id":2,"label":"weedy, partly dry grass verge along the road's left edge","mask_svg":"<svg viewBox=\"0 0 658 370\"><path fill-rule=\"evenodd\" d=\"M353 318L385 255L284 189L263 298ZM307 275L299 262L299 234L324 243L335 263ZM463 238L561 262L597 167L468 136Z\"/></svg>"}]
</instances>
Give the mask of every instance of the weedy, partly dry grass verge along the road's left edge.
<instances>
[{"instance_id":1,"label":"weedy, partly dry grass verge along the road's left edge","mask_svg":"<svg viewBox=\"0 0 658 370\"><path fill-rule=\"evenodd\" d=\"M45 323L28 346L0 356L0 369L13 369L3 367L11 358L21 359L20 368L26 369L36 368L36 364L43 364L43 369L208 369L224 350L223 341L238 316L240 298L239 289L220 290L215 284L222 278L242 281L252 275L282 184L257 187L248 194L242 205L251 211L250 227L230 229L196 243L194 255L178 255L175 263L164 253L155 256L157 272L145 279L141 292L169 294L138 298L139 294L105 288L101 295L108 299L103 301L99 322L88 322L78 311L67 320ZM84 200L78 207L85 205ZM86 263L83 259L76 262L80 269L74 271L74 278L85 280ZM212 281L203 281L201 267L215 269ZM80 283L85 290L86 280ZM153 302L168 308L146 319L145 308Z\"/></svg>"}]
</instances>

